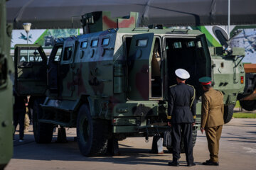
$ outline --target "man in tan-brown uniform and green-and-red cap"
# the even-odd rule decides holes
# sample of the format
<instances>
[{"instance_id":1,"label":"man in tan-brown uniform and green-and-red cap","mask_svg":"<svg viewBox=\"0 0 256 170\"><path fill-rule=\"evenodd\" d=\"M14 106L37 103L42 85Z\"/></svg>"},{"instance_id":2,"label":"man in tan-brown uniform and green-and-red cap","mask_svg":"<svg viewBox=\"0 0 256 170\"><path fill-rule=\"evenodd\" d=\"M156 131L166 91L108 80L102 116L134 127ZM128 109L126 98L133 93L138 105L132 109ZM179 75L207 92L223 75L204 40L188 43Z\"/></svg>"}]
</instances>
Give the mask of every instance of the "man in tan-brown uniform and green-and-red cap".
<instances>
[{"instance_id":1,"label":"man in tan-brown uniform and green-and-red cap","mask_svg":"<svg viewBox=\"0 0 256 170\"><path fill-rule=\"evenodd\" d=\"M210 77L202 77L199 81L206 91L202 96L201 132L206 130L210 152L210 159L203 164L218 166L219 141L224 124L223 94L213 89Z\"/></svg>"}]
</instances>

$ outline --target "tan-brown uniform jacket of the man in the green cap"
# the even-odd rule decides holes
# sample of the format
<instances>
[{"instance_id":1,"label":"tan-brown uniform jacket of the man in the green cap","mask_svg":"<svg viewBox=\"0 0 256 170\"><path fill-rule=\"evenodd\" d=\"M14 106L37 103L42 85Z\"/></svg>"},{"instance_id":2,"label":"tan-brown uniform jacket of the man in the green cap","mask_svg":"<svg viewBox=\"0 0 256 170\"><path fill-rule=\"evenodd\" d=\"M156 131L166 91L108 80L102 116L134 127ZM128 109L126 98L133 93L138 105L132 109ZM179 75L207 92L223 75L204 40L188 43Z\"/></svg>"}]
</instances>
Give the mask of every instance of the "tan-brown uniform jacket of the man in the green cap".
<instances>
[{"instance_id":1,"label":"tan-brown uniform jacket of the man in the green cap","mask_svg":"<svg viewBox=\"0 0 256 170\"><path fill-rule=\"evenodd\" d=\"M202 96L201 127L208 128L224 124L223 94L215 89L209 89Z\"/></svg>"}]
</instances>

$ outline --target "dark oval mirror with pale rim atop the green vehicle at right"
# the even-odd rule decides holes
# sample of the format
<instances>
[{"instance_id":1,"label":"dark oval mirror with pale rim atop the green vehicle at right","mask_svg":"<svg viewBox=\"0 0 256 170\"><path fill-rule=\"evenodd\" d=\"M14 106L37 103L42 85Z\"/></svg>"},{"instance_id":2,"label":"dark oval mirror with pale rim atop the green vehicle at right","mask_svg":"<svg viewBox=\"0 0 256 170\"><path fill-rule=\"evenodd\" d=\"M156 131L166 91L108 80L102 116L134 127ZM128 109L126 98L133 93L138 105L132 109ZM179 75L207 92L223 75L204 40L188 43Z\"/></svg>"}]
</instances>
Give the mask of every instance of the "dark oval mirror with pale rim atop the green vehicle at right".
<instances>
[{"instance_id":1,"label":"dark oval mirror with pale rim atop the green vehicle at right","mask_svg":"<svg viewBox=\"0 0 256 170\"><path fill-rule=\"evenodd\" d=\"M233 50L228 45L228 40L230 39L228 33L220 26L213 26L213 33L223 46L223 51L227 53L227 55L231 55Z\"/></svg>"}]
</instances>

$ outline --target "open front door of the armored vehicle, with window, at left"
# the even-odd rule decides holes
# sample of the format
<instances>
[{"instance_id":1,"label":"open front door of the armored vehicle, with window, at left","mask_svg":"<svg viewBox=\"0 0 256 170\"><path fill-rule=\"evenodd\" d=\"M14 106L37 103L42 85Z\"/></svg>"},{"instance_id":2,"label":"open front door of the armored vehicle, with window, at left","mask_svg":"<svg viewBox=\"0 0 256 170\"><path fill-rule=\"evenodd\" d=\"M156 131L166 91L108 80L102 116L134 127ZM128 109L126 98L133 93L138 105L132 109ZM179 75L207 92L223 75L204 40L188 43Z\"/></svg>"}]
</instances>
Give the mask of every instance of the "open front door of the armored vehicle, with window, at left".
<instances>
[{"instance_id":1,"label":"open front door of the armored vehicle, with window, at left","mask_svg":"<svg viewBox=\"0 0 256 170\"><path fill-rule=\"evenodd\" d=\"M15 90L19 96L41 96L46 92L47 57L41 45L15 45Z\"/></svg>"}]
</instances>

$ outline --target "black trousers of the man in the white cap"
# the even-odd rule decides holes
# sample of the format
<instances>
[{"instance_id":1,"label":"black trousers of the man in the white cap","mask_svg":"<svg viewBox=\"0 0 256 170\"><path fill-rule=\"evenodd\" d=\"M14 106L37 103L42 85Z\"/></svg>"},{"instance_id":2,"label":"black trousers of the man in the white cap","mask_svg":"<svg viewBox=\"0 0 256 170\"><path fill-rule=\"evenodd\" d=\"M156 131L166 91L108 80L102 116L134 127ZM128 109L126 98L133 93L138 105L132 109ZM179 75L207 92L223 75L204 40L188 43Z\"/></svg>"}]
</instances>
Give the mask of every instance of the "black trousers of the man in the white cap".
<instances>
[{"instance_id":1,"label":"black trousers of the man in the white cap","mask_svg":"<svg viewBox=\"0 0 256 170\"><path fill-rule=\"evenodd\" d=\"M193 163L192 123L172 123L173 129L173 160L181 158L181 137L184 140L186 162Z\"/></svg>"}]
</instances>

